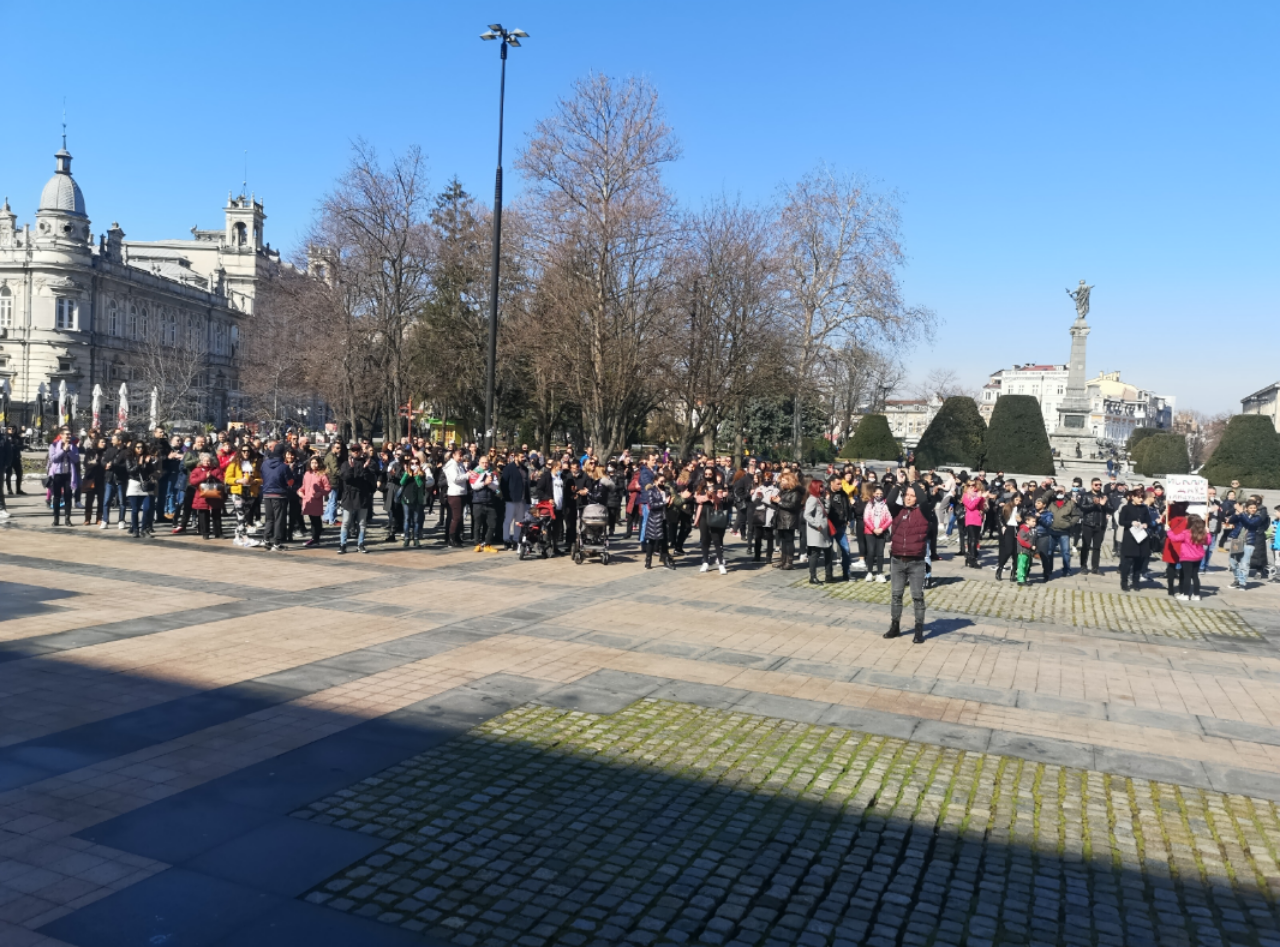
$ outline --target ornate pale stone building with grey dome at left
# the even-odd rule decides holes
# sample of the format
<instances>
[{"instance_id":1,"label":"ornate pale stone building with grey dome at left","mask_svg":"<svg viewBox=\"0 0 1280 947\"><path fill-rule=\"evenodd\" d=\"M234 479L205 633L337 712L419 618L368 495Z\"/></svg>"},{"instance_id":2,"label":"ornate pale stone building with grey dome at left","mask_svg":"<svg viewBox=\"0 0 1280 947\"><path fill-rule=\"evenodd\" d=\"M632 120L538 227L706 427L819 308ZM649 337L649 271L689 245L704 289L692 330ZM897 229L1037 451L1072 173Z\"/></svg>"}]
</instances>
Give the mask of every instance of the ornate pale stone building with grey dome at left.
<instances>
[{"instance_id":1,"label":"ornate pale stone building with grey dome at left","mask_svg":"<svg viewBox=\"0 0 1280 947\"><path fill-rule=\"evenodd\" d=\"M280 265L262 239L262 205L228 196L225 225L192 228L191 239L131 242L113 223L95 241L65 142L55 161L35 225L19 229L8 198L0 207L0 380L10 422L36 426L44 404L44 424L58 424L60 383L76 395L77 427L88 424L96 385L102 425L114 426L122 383L134 418L156 388L166 420L234 420L241 335L260 283Z\"/></svg>"}]
</instances>

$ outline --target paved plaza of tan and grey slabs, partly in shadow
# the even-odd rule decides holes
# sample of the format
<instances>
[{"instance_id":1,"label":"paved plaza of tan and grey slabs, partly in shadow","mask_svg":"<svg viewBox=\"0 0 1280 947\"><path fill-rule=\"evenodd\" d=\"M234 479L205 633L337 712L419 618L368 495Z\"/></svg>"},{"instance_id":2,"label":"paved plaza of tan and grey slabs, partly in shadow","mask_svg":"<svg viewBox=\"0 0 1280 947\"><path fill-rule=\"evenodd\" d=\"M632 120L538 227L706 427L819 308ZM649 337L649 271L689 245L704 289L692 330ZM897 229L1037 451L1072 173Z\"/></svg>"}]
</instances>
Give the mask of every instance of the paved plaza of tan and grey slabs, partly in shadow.
<instances>
[{"instance_id":1,"label":"paved plaza of tan and grey slabs, partly in shadow","mask_svg":"<svg viewBox=\"0 0 1280 947\"><path fill-rule=\"evenodd\" d=\"M1280 585L0 525L0 944L1280 947Z\"/></svg>"}]
</instances>

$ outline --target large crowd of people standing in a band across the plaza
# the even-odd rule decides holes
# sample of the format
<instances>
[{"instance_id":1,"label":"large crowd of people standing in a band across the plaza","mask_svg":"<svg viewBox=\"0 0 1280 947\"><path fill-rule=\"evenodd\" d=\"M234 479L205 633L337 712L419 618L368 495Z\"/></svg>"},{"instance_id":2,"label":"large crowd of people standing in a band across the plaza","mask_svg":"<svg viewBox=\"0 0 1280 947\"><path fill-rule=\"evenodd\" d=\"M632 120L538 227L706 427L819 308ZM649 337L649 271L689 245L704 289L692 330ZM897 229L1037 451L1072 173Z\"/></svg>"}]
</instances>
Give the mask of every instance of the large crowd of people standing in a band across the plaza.
<instances>
[{"instance_id":1,"label":"large crowd of people standing in a band across the plaza","mask_svg":"<svg viewBox=\"0 0 1280 947\"><path fill-rule=\"evenodd\" d=\"M14 433L0 436L10 494L22 491L18 447ZM677 568L696 530L692 558L703 572L728 571L732 536L745 544L742 561L806 566L815 585L891 582L888 636L901 633L909 590L916 640L933 563L940 546L952 544L968 568L993 569L996 581L1007 576L1019 586L1070 576L1073 559L1098 576L1105 553L1126 593L1158 580L1158 557L1167 594L1198 600L1215 549L1228 557L1230 589L1249 587L1251 575L1280 576L1280 536L1261 497L1233 484L1224 498L1210 489L1207 504L1189 508L1167 502L1158 482L1125 484L1115 472L1088 485L914 466L828 465L806 476L799 465L754 457L741 466L669 452L598 458L591 448L543 457L527 447L485 453L422 438L321 445L298 433L178 436L157 427L150 436L64 429L49 447L42 485L54 526L111 529L114 511L115 529L138 539L163 526L273 552L301 543L367 553L376 523L378 540L403 548L421 548L434 534L443 546L498 553L540 529L536 512L547 521L547 552L561 555L573 548L579 513L594 507L611 537L639 540L645 568L655 559Z\"/></svg>"}]
</instances>

